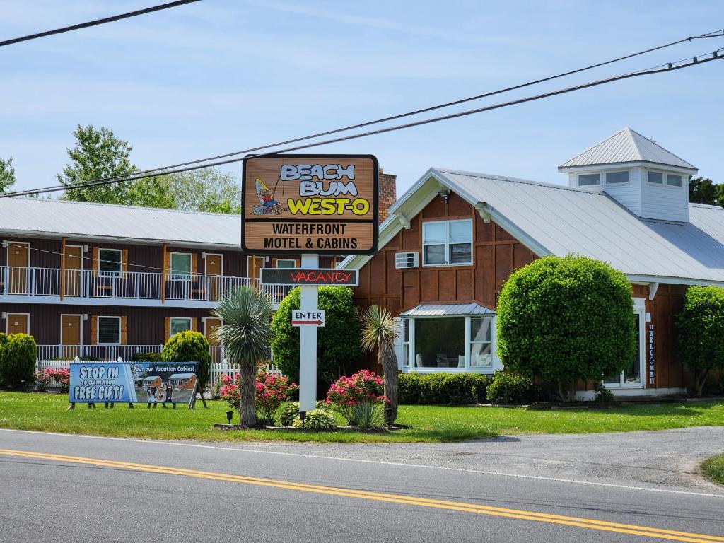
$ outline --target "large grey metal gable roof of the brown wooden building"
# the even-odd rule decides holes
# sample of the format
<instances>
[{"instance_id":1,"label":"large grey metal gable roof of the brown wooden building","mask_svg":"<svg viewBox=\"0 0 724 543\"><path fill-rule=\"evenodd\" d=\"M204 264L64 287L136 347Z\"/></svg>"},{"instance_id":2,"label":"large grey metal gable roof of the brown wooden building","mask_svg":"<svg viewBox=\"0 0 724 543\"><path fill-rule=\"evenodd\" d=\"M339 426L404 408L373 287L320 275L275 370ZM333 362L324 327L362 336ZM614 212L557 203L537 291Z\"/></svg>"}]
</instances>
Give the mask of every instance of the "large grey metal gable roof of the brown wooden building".
<instances>
[{"instance_id":1,"label":"large grey metal gable roof of the brown wooden building","mask_svg":"<svg viewBox=\"0 0 724 543\"><path fill-rule=\"evenodd\" d=\"M429 169L390 208L380 246L437 197L440 185L537 256L578 253L609 262L633 281L724 286L723 208L689 204L689 223L641 219L602 192L451 169ZM348 257L340 266L358 268L369 258Z\"/></svg>"}]
</instances>

